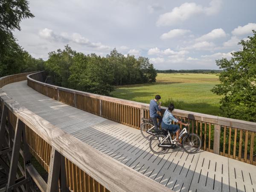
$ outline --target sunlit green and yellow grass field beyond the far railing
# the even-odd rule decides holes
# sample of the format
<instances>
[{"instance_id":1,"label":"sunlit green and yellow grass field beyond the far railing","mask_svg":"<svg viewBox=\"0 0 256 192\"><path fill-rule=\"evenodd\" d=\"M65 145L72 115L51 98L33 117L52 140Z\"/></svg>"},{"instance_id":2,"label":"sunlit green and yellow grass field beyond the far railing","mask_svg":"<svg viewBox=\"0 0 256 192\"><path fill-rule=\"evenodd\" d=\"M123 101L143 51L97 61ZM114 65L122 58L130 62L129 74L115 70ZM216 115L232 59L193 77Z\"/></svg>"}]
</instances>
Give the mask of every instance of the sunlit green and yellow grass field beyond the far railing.
<instances>
[{"instance_id":1,"label":"sunlit green and yellow grass field beyond the far railing","mask_svg":"<svg viewBox=\"0 0 256 192\"><path fill-rule=\"evenodd\" d=\"M174 102L175 107L187 111L218 115L221 96L210 90L218 84L216 74L158 73L157 82L117 87L112 96L131 101L149 103L159 94L163 102Z\"/></svg>"}]
</instances>

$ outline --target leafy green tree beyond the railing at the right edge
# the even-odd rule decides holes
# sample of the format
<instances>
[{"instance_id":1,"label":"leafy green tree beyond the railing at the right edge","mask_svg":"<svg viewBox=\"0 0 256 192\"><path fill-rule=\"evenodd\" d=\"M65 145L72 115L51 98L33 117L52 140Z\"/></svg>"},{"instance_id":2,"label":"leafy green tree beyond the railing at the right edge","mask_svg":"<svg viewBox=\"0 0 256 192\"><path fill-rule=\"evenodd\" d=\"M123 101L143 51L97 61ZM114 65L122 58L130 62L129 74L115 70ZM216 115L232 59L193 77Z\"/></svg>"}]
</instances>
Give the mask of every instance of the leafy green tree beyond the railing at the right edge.
<instances>
[{"instance_id":1,"label":"leafy green tree beyond the railing at the right edge","mask_svg":"<svg viewBox=\"0 0 256 192\"><path fill-rule=\"evenodd\" d=\"M256 122L256 31L249 40L242 40L242 49L233 52L230 60L222 58L216 64L223 69L220 84L213 93L224 95L221 115Z\"/></svg>"}]
</instances>

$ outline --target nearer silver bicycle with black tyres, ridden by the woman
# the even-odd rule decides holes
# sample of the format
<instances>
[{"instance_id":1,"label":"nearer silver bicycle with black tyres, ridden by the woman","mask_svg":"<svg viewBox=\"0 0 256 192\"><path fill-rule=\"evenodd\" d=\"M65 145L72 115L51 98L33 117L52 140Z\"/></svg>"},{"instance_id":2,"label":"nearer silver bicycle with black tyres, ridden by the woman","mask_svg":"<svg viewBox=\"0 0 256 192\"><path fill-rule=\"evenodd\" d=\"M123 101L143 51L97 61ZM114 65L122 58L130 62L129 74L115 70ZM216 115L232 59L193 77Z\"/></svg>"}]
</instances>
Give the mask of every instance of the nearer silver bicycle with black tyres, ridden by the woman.
<instances>
[{"instance_id":1,"label":"nearer silver bicycle with black tyres, ridden by the woman","mask_svg":"<svg viewBox=\"0 0 256 192\"><path fill-rule=\"evenodd\" d=\"M181 147L186 153L194 154L201 148L201 139L197 134L189 134L187 128L180 131L178 139L181 141ZM156 154L165 154L170 148L177 148L176 137L172 140L170 131L159 130L150 138L149 147Z\"/></svg>"}]
</instances>

